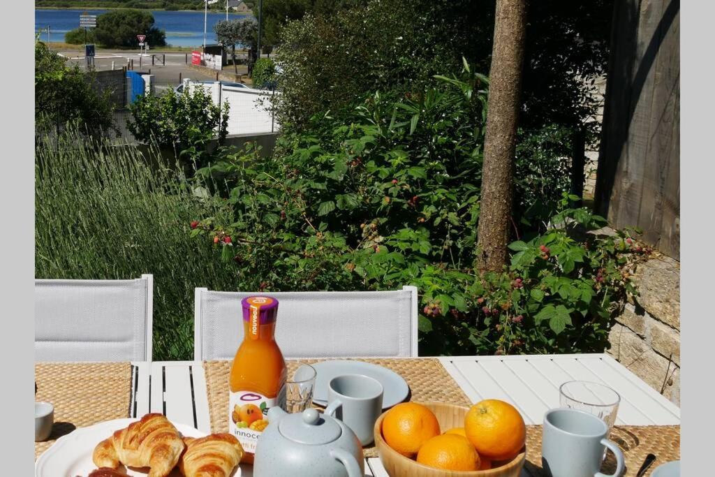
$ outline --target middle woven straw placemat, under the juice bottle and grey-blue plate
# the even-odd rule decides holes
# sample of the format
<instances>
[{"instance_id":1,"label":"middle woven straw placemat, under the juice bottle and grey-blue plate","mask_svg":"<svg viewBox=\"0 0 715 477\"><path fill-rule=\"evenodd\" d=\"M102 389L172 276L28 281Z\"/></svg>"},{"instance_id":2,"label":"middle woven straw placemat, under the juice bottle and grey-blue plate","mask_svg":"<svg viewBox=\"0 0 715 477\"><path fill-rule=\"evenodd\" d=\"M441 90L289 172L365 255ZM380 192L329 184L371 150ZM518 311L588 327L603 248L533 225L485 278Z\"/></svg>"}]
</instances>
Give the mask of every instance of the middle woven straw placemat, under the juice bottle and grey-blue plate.
<instances>
[{"instance_id":1,"label":"middle woven straw placemat, under the juice bottle and grey-blue plate","mask_svg":"<svg viewBox=\"0 0 715 477\"><path fill-rule=\"evenodd\" d=\"M320 360L300 360L301 363L317 363ZM469 405L469 399L435 358L410 359L365 359L357 360L389 368L405 378L410 386L409 400L437 401ZM288 375L297 368L296 361L288 361ZM230 361L206 361L206 391L209 399L209 414L213 432L228 431L228 376ZM365 448L365 457L377 457L373 446Z\"/></svg>"}]
</instances>

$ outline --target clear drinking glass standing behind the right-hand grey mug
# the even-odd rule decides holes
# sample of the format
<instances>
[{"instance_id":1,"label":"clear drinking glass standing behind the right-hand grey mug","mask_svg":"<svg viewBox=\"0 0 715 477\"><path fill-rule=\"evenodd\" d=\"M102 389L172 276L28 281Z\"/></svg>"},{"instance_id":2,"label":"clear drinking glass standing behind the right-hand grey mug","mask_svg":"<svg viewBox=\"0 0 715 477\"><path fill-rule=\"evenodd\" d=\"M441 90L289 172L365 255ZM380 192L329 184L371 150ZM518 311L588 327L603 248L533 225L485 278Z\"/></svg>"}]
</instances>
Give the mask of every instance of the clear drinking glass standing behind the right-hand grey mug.
<instances>
[{"instance_id":1,"label":"clear drinking glass standing behind the right-hand grey mug","mask_svg":"<svg viewBox=\"0 0 715 477\"><path fill-rule=\"evenodd\" d=\"M580 409L598 416L608 426L606 436L611 433L621 403L621 396L616 391L591 381L568 381L558 391L562 408Z\"/></svg>"}]
</instances>

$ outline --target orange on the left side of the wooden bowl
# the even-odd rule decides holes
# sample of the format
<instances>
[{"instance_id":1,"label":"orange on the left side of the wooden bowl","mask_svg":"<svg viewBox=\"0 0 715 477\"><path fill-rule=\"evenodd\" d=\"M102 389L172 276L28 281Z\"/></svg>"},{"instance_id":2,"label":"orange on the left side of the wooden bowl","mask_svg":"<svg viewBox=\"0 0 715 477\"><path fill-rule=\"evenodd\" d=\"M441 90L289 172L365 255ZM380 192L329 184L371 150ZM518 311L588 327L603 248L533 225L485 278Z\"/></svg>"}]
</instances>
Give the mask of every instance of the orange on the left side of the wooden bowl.
<instances>
[{"instance_id":1,"label":"orange on the left side of the wooden bowl","mask_svg":"<svg viewBox=\"0 0 715 477\"><path fill-rule=\"evenodd\" d=\"M383 437L388 446L413 458L425 441L440 435L440 423L431 410L418 403L400 403L383 419Z\"/></svg>"}]
</instances>

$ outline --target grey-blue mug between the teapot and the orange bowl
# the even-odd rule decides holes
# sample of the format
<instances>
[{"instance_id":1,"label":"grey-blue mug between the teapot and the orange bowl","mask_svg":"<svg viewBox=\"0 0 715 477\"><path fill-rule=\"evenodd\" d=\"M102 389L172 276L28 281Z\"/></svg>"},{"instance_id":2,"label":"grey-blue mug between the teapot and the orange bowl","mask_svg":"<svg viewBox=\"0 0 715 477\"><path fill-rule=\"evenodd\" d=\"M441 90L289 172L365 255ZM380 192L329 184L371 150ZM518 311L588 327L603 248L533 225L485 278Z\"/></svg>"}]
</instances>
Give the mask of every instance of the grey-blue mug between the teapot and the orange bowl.
<instances>
[{"instance_id":1,"label":"grey-blue mug between the teapot and the orange bowl","mask_svg":"<svg viewBox=\"0 0 715 477\"><path fill-rule=\"evenodd\" d=\"M328 383L325 414L345 423L363 446L375 440L373 428L382 413L383 385L375 378L344 374Z\"/></svg>"}]
</instances>

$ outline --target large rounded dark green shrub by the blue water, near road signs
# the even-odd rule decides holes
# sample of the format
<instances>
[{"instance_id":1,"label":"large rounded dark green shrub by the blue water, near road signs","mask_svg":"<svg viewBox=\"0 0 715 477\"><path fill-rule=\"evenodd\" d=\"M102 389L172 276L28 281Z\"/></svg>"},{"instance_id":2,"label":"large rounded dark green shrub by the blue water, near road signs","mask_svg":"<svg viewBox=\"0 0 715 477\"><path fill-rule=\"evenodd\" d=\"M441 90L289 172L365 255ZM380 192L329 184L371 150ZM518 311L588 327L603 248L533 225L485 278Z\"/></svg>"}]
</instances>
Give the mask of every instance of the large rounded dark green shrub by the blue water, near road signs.
<instances>
[{"instance_id":1,"label":"large rounded dark green shrub by the blue water, near road signs","mask_svg":"<svg viewBox=\"0 0 715 477\"><path fill-rule=\"evenodd\" d=\"M121 9L97 17L94 36L103 46L137 46L137 34L147 35L151 46L165 46L166 33L154 26L154 16L148 11Z\"/></svg>"}]
</instances>

